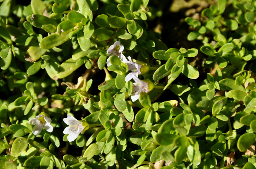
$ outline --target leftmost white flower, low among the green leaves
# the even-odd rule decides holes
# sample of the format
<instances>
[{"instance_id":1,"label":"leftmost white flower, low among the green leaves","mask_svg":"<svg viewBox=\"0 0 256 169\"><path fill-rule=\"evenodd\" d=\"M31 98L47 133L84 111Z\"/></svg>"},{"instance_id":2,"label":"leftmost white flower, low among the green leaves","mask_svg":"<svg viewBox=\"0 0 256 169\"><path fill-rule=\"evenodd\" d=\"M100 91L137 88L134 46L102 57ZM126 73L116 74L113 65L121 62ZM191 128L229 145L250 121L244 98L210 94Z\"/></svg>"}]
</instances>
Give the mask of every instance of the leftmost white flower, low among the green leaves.
<instances>
[{"instance_id":1,"label":"leftmost white flower, low among the green leaves","mask_svg":"<svg viewBox=\"0 0 256 169\"><path fill-rule=\"evenodd\" d=\"M53 127L51 125L51 122L52 120L45 115L38 115L28 121L29 124L35 125L32 130L32 133L35 136L40 134L43 128L48 132L52 132Z\"/></svg>"}]
</instances>

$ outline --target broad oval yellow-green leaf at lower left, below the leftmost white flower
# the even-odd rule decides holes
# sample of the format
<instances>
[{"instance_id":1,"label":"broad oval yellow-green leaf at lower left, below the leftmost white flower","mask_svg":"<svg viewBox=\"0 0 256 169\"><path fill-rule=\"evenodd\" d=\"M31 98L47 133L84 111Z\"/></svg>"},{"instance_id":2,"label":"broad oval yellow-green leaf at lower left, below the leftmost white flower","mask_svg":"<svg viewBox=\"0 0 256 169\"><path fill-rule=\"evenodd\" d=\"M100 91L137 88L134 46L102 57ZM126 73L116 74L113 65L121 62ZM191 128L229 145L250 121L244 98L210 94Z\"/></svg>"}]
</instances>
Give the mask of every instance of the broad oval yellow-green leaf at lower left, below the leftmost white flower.
<instances>
[{"instance_id":1,"label":"broad oval yellow-green leaf at lower left, below the leftmost white flower","mask_svg":"<svg viewBox=\"0 0 256 169\"><path fill-rule=\"evenodd\" d=\"M12 156L19 157L22 151L25 151L28 147L28 140L24 137L16 138L12 143Z\"/></svg>"}]
</instances>

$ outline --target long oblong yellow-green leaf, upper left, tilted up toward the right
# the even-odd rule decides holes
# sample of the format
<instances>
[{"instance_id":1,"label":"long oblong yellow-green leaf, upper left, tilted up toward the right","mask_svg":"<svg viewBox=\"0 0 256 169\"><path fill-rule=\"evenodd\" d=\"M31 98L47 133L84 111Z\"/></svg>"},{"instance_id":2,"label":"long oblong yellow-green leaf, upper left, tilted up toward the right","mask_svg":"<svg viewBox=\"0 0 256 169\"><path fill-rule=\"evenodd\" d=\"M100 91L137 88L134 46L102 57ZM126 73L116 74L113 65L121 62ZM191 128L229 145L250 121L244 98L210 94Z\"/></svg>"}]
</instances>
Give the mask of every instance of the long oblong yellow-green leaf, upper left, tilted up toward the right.
<instances>
[{"instance_id":1,"label":"long oblong yellow-green leaf, upper left, tilted up toward the right","mask_svg":"<svg viewBox=\"0 0 256 169\"><path fill-rule=\"evenodd\" d=\"M59 46L66 42L69 39L69 31L62 32L62 33L52 33L49 36L44 37L40 43L39 46L42 49L52 49L53 47Z\"/></svg>"}]
</instances>

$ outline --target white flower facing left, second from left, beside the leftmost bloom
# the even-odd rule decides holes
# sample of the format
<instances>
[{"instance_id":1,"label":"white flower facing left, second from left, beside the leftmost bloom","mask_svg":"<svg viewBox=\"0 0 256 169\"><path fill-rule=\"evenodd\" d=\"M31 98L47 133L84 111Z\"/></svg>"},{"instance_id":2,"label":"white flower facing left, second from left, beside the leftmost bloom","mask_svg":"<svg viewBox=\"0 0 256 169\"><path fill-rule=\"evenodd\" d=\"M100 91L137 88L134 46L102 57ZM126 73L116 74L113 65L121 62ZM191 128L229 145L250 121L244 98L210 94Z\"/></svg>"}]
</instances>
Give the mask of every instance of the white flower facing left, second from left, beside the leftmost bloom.
<instances>
[{"instance_id":1,"label":"white flower facing left, second from left, beside the leftmost bloom","mask_svg":"<svg viewBox=\"0 0 256 169\"><path fill-rule=\"evenodd\" d=\"M68 118L64 118L63 121L68 124L68 127L64 129L63 133L68 134L68 141L72 142L84 130L84 126L81 121L76 120L76 118L71 115L68 115Z\"/></svg>"}]
</instances>

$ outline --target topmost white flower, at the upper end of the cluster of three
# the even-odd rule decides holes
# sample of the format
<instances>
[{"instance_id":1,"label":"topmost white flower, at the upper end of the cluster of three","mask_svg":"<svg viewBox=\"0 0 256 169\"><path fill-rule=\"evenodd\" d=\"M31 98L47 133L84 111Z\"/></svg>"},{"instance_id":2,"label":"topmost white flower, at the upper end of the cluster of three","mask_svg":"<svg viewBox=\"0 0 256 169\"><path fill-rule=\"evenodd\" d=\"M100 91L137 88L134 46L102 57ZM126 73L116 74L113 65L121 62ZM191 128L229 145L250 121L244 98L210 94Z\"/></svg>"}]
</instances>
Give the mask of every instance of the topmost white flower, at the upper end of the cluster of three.
<instances>
[{"instance_id":1,"label":"topmost white flower, at the upper end of the cluster of three","mask_svg":"<svg viewBox=\"0 0 256 169\"><path fill-rule=\"evenodd\" d=\"M120 44L119 41L116 41L113 45L109 46L108 50L107 50L107 54L110 55L107 59L107 66L110 66L110 57L113 55L116 55L117 57L119 57L120 59L123 60L127 60L123 54L123 50L124 50L124 46Z\"/></svg>"}]
</instances>

